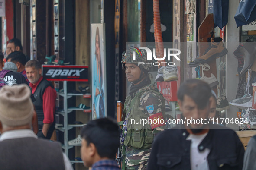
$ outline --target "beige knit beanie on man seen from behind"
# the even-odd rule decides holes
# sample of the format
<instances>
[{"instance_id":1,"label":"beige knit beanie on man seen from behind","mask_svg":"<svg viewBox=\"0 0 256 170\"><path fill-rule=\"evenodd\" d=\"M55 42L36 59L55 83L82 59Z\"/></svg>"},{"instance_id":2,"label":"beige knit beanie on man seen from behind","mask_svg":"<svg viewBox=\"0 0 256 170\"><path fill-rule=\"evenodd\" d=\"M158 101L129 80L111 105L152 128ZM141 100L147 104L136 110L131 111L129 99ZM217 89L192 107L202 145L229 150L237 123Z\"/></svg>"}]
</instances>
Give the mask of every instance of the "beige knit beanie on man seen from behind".
<instances>
[{"instance_id":1,"label":"beige knit beanie on man seen from behind","mask_svg":"<svg viewBox=\"0 0 256 170\"><path fill-rule=\"evenodd\" d=\"M28 85L5 85L0 90L0 121L14 127L29 124L33 116L33 103Z\"/></svg>"}]
</instances>

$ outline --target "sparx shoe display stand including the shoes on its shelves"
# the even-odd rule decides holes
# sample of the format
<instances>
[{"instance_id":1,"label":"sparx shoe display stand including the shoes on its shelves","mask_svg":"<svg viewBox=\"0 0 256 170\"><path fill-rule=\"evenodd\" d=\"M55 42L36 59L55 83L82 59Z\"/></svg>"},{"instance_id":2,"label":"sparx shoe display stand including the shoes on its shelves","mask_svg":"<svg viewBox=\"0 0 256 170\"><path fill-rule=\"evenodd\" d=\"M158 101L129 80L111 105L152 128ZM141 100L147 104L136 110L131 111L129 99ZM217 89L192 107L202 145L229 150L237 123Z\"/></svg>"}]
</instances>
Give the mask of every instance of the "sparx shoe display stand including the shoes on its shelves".
<instances>
[{"instance_id":1,"label":"sparx shoe display stand including the shoes on its shelves","mask_svg":"<svg viewBox=\"0 0 256 170\"><path fill-rule=\"evenodd\" d=\"M85 124L70 124L68 122L68 116L71 114L75 118L76 110L82 110L83 114L90 114L91 113L91 94L87 93L89 87L81 88L79 87L80 91L71 91L71 87L68 87L68 82L88 82L89 79L89 67L88 66L77 66L77 65L42 65L42 76L47 79L48 81L55 82L55 89L57 91L57 98L56 98L56 107L60 106L60 102L62 102L62 107L59 110L56 110L58 115L63 116L63 120L55 124L55 129L63 132L63 141L62 141L62 148L65 154L69 157L68 151L71 148L76 146L81 146L81 138L75 138L73 140L68 140L68 132L74 128L80 128ZM59 89L59 82L63 82L63 89ZM68 92L70 90L71 92ZM84 99L82 101L87 101L90 104L89 107L85 106L84 104L79 104L79 106L75 107L68 107L68 100L72 101L72 104L75 104L76 96L81 96ZM61 98L61 100L60 100ZM88 101L89 100L89 101ZM68 143L75 144L69 145ZM83 161L77 161L74 157L70 160L71 163L83 163Z\"/></svg>"}]
</instances>

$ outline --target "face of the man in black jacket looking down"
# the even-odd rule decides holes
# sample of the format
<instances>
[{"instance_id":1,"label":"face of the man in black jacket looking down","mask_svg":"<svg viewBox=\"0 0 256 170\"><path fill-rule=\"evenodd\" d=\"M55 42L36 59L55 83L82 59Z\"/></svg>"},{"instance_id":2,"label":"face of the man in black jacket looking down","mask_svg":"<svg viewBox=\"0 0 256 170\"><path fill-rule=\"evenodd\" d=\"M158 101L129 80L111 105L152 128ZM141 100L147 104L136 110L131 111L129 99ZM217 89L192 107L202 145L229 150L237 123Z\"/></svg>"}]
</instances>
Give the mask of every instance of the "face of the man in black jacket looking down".
<instances>
[{"instance_id":1,"label":"face of the man in black jacket looking down","mask_svg":"<svg viewBox=\"0 0 256 170\"><path fill-rule=\"evenodd\" d=\"M204 128L205 124L203 123L203 121L199 120L208 119L208 114L210 110L209 105L211 104L211 102L209 102L209 104L205 108L198 108L198 105L191 97L189 97L188 95L184 95L183 101L181 102L180 100L178 100L178 104L186 120L195 120L191 121L191 123L188 122L188 127L190 129ZM198 123L196 123L196 120L198 120Z\"/></svg>"}]
</instances>

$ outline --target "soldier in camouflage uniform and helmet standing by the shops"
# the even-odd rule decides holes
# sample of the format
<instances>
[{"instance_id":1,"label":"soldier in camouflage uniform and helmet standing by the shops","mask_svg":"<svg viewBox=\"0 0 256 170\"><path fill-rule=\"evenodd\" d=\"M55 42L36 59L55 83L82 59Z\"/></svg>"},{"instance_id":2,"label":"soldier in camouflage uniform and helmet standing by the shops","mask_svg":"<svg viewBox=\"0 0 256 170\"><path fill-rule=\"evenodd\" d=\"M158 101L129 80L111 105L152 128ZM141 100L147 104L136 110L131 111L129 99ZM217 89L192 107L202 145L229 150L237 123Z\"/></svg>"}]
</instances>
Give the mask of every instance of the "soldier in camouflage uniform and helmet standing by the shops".
<instances>
[{"instance_id":1,"label":"soldier in camouflage uniform and helmet standing by the shops","mask_svg":"<svg viewBox=\"0 0 256 170\"><path fill-rule=\"evenodd\" d=\"M164 130L165 123L147 123L139 120L154 120L165 118L165 99L154 85L150 85L149 65L138 66L139 62L146 63L146 51L130 49L123 53L122 66L125 68L126 78L132 83L130 93L126 97L123 123L122 145L125 145L126 170L146 169L151 144L157 132ZM133 60L135 52L136 60ZM135 120L135 123L131 120Z\"/></svg>"}]
</instances>

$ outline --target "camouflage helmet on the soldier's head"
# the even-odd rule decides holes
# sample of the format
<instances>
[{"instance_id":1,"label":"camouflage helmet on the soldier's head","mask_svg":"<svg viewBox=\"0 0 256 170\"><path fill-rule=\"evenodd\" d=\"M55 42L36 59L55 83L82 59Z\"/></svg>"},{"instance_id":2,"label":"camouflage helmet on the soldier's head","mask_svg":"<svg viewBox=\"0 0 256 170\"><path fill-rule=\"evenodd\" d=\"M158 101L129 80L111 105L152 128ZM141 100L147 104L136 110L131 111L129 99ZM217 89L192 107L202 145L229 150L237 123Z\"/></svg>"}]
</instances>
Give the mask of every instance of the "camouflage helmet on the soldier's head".
<instances>
[{"instance_id":1,"label":"camouflage helmet on the soldier's head","mask_svg":"<svg viewBox=\"0 0 256 170\"><path fill-rule=\"evenodd\" d=\"M133 60L133 52L135 53L135 60ZM143 62L143 65L139 65L139 62ZM134 48L130 48L129 50L126 50L122 54L122 69L125 69L125 63L132 63L139 66L139 68L146 69L149 71L149 65L146 65L146 50L139 49L136 50Z\"/></svg>"}]
</instances>

